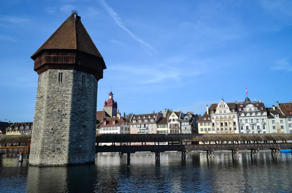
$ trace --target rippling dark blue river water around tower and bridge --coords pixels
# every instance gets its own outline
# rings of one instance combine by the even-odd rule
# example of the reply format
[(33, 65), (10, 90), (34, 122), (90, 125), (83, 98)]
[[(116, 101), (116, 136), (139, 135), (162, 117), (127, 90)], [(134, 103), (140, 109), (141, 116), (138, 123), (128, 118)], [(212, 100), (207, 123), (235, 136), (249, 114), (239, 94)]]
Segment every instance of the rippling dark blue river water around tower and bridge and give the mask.
[(292, 156), (273, 158), (261, 153), (251, 158), (240, 153), (189, 153), (186, 162), (179, 153), (98, 154), (95, 165), (74, 167), (28, 167), (26, 159), (2, 155), (2, 193), (291, 193)]

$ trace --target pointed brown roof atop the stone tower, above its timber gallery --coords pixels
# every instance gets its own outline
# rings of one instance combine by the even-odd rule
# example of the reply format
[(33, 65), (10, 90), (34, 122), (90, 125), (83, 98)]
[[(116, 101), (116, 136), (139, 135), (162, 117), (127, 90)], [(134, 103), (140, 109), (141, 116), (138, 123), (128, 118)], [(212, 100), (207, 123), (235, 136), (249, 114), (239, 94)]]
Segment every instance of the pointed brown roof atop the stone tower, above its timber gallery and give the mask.
[(31, 58), (34, 59), (37, 53), (40, 53), (42, 50), (51, 49), (77, 50), (102, 58), (90, 35), (81, 23), (81, 17), (77, 16), (76, 13), (72, 13)]

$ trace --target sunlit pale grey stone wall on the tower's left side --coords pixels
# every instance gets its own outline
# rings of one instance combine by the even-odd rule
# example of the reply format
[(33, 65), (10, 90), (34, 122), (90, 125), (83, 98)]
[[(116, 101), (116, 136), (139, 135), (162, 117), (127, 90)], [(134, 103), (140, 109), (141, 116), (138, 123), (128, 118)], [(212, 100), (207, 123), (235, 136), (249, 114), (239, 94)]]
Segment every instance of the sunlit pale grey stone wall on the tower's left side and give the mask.
[(73, 70), (47, 70), (39, 75), (30, 165), (68, 164), (72, 88)]

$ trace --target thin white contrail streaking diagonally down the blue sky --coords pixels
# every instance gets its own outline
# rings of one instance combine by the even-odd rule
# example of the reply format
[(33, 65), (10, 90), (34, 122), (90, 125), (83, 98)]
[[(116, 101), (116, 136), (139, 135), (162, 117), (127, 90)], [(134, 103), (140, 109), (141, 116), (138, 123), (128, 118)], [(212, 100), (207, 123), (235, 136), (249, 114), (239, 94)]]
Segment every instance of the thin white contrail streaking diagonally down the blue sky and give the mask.
[(110, 7), (110, 5), (105, 0), (99, 0), (102, 7), (110, 14), (111, 18), (118, 24), (119, 27), (121, 27), (123, 30), (125, 30), (133, 39), (138, 41), (142, 46), (152, 50), (153, 52), (157, 53), (156, 50), (148, 44), (146, 41), (138, 37), (137, 35), (134, 35), (124, 24), (122, 21), (122, 18), (119, 17), (119, 15)]

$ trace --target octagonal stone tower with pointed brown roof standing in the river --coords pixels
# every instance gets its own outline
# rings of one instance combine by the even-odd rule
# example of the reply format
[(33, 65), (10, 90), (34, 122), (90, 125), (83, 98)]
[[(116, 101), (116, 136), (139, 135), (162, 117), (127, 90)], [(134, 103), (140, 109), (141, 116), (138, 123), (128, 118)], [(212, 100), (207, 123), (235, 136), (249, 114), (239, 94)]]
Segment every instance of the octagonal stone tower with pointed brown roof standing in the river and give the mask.
[(31, 58), (38, 83), (29, 164), (94, 163), (97, 82), (106, 65), (77, 11)]

